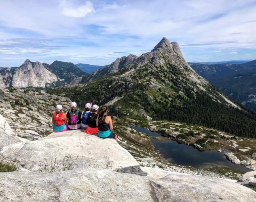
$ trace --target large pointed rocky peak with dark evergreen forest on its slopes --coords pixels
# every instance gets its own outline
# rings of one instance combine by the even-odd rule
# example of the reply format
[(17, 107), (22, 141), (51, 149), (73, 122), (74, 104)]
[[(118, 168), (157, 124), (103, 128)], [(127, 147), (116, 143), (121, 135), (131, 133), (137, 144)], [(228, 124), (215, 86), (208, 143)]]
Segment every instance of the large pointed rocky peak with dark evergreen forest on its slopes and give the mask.
[(48, 92), (85, 103), (111, 106), (112, 115), (202, 125), (241, 137), (256, 137), (256, 114), (230, 100), (185, 61), (176, 42), (155, 48), (115, 72), (84, 84)]

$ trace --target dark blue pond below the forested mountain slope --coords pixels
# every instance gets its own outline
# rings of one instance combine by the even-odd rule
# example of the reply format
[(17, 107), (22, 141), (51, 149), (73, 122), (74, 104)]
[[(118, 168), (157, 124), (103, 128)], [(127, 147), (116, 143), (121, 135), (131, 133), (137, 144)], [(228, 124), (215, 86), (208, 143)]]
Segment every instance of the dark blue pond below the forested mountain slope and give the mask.
[[(129, 125), (130, 126), (130, 125)], [(229, 167), (244, 172), (251, 171), (250, 169), (240, 164), (234, 164), (227, 160), (222, 152), (218, 151), (198, 151), (192, 146), (180, 144), (173, 140), (157, 141), (152, 137), (161, 137), (160, 134), (154, 133), (141, 127), (134, 127), (136, 131), (146, 133), (150, 136), (151, 141), (164, 159), (170, 163), (192, 166), (195, 168), (210, 168), (210, 167)]]

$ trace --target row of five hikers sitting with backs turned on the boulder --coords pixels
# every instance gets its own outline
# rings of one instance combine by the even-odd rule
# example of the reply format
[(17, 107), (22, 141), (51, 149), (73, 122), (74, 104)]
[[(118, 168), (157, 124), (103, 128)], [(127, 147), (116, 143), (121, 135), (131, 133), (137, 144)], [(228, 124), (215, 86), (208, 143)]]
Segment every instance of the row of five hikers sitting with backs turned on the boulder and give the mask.
[(59, 133), (68, 129), (84, 129), (84, 132), (91, 135), (98, 135), (101, 138), (112, 138), (117, 141), (117, 135), (113, 132), (113, 124), (110, 116), (107, 115), (108, 109), (105, 105), (101, 107), (87, 103), (85, 111), (77, 109), (75, 102), (71, 103), (71, 109), (64, 113), (62, 105), (56, 106), (56, 112), (52, 115), (53, 132)]

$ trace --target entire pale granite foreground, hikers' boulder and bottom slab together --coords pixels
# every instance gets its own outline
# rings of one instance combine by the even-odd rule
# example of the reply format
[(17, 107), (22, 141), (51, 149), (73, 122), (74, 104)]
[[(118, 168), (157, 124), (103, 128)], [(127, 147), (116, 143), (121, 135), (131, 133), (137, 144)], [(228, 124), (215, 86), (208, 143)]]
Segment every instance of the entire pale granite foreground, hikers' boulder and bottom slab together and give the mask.
[(80, 130), (0, 153), (21, 167), (0, 173), (0, 201), (256, 201), (256, 192), (234, 180), (142, 168), (113, 139)]

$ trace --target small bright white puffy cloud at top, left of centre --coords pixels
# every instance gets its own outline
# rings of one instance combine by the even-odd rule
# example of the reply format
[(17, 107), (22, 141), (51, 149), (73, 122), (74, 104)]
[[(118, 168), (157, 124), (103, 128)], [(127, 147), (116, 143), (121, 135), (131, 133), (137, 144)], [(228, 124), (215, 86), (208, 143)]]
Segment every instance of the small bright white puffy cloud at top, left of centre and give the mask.
[(86, 2), (83, 6), (79, 6), (77, 8), (63, 8), (63, 14), (68, 17), (73, 18), (82, 18), (86, 16), (88, 13), (94, 12), (94, 8), (91, 2)]

